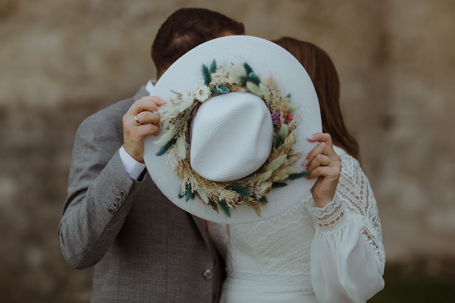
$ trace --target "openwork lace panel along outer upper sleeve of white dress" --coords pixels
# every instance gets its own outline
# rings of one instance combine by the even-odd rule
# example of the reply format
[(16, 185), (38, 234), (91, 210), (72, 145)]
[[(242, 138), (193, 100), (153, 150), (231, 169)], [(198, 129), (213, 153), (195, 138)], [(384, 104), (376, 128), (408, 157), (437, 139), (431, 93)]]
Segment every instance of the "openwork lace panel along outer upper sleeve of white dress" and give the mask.
[(385, 264), (382, 226), (370, 181), (356, 159), (347, 154), (340, 157), (343, 168), (341, 169), (337, 193), (343, 201), (343, 205), (351, 213), (362, 216), (361, 234), (373, 246), (382, 275), (384, 274)]

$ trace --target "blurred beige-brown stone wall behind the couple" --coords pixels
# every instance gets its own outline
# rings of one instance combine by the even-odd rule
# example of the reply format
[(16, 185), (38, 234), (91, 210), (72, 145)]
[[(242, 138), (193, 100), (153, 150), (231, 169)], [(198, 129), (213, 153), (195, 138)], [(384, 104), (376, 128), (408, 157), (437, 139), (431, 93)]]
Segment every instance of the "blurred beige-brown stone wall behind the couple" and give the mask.
[(378, 199), (387, 260), (455, 257), (455, 2), (0, 0), (2, 298), (88, 299), (91, 271), (67, 266), (57, 240), (74, 133), (154, 77), (151, 42), (181, 7), (323, 47)]

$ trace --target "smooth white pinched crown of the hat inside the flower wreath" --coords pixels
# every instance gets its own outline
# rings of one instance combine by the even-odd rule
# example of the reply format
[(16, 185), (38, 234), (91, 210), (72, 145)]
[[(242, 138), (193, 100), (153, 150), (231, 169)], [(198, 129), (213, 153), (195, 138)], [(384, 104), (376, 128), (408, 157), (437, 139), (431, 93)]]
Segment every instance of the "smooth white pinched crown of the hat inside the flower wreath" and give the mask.
[(211, 97), (193, 120), (191, 167), (212, 181), (244, 178), (268, 159), (272, 138), (270, 112), (260, 97), (246, 92)]

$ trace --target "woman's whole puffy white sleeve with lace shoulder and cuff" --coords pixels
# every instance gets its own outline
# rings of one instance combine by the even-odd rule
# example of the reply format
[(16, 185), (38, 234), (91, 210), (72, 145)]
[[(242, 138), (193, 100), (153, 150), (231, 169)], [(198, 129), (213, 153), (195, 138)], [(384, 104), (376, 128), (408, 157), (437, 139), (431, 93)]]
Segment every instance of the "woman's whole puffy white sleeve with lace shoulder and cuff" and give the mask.
[(344, 154), (334, 199), (323, 209), (310, 199), (315, 234), (311, 283), (317, 299), (366, 302), (384, 288), (385, 252), (376, 199), (357, 160)]

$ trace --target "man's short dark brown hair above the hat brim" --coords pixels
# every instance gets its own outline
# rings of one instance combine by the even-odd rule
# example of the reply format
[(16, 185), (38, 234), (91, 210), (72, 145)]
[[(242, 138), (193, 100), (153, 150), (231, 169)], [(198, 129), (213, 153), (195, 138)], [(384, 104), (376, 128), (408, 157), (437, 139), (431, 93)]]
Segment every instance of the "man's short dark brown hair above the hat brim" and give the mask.
[(161, 25), (152, 45), (152, 59), (160, 76), (178, 58), (206, 41), (242, 35), (245, 27), (207, 9), (179, 9)]

